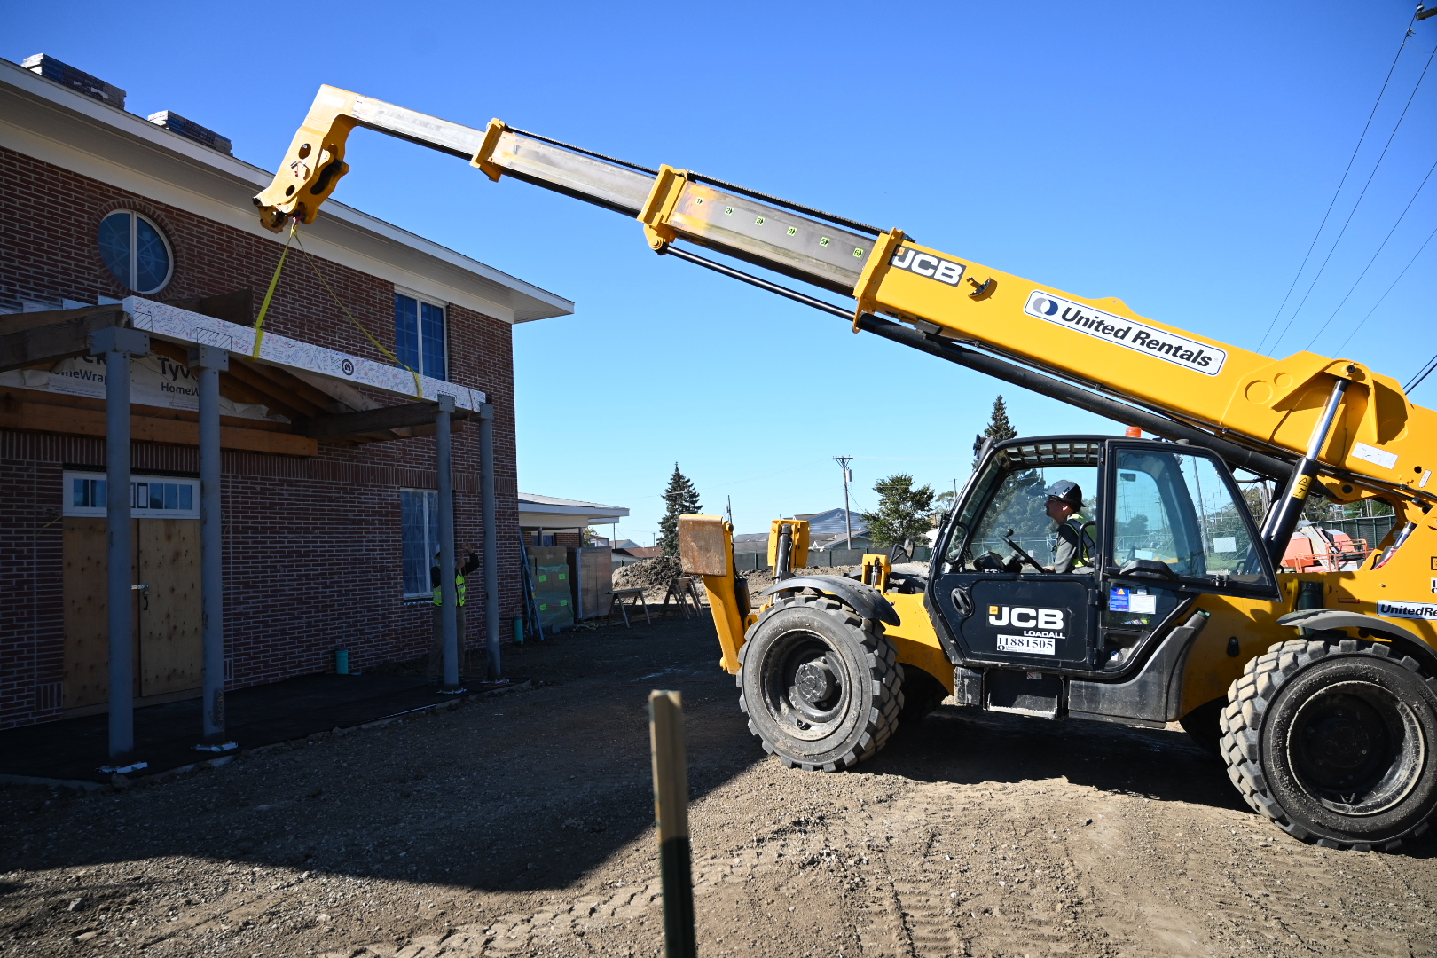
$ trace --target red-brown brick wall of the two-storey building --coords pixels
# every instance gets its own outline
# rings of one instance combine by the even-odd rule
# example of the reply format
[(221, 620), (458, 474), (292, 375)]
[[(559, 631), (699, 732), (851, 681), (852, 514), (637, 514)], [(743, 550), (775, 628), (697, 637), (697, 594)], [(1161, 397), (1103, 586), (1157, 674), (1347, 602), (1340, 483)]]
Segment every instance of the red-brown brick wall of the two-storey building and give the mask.
[[(144, 213), (165, 230), (174, 274), (154, 299), (214, 296), (269, 284), (279, 244), (185, 210), (0, 148), (0, 309), (22, 300), (95, 302), (129, 290), (105, 269), (95, 241), (115, 210)], [(303, 254), (292, 251), (266, 329), (385, 358), (343, 316)], [(394, 349), (394, 289), (316, 257), (345, 306)], [(500, 616), (520, 615), (512, 330), (448, 309), (450, 378), (494, 405)], [(134, 468), (195, 473), (194, 447), (137, 442)], [(103, 468), (103, 440), (0, 431), (0, 728), (56, 718), (63, 682), (60, 478), (65, 465)], [(479, 428), (454, 437), (458, 543), (483, 541)], [(348, 447), (322, 442), (316, 458), (226, 451), (226, 649), (231, 688), (328, 671), (335, 648), (351, 666), (422, 655), (430, 609), (405, 605), (399, 493), (434, 488), (434, 440)], [(468, 643), (483, 643), (483, 570), (470, 579)]]

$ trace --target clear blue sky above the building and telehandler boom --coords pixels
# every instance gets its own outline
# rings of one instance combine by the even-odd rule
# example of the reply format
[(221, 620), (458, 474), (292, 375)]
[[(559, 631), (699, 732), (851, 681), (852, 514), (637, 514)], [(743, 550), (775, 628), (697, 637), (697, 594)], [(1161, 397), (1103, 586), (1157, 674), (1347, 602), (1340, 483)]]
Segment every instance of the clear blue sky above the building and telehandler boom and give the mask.
[[(266, 168), (320, 83), (476, 126), (499, 116), (1256, 349), (1413, 6), (14, 4), (0, 55), (57, 56)], [(1372, 174), (1434, 45), (1437, 19), (1415, 24), (1277, 352), (1407, 381), (1437, 350), (1437, 240), (1355, 330), (1437, 227), (1434, 175), (1372, 260), (1437, 161), (1434, 66)], [(961, 483), (1000, 391), (1025, 434), (1117, 428), (655, 257), (616, 214), (366, 131), (349, 161), (336, 198), (578, 303), (514, 330), (520, 488), (627, 506), (621, 536), (658, 529), (675, 461), (708, 510), (731, 496), (739, 530), (757, 531), (841, 504), (839, 454), (858, 507), (895, 471)], [(1437, 375), (1414, 398), (1437, 404)]]

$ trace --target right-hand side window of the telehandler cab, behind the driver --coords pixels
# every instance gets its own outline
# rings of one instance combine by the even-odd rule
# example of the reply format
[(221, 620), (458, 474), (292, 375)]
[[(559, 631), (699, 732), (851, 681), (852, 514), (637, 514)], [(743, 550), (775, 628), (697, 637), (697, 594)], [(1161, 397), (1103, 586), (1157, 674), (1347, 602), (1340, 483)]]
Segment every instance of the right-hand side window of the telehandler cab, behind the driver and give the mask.
[(1117, 451), (1109, 560), (1165, 563), (1181, 577), (1266, 579), (1246, 521), (1246, 504), (1203, 455)]

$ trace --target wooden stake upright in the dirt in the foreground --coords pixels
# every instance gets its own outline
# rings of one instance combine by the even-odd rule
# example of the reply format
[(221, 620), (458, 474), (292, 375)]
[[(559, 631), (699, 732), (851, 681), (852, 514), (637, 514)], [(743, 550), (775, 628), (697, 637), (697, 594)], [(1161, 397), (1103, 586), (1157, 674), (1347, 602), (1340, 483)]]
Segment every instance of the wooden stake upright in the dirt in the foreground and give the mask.
[(684, 754), (684, 699), (678, 692), (655, 689), (648, 694), (648, 740), (654, 753), (654, 819), (664, 886), (664, 954), (667, 958), (696, 958), (688, 758)]

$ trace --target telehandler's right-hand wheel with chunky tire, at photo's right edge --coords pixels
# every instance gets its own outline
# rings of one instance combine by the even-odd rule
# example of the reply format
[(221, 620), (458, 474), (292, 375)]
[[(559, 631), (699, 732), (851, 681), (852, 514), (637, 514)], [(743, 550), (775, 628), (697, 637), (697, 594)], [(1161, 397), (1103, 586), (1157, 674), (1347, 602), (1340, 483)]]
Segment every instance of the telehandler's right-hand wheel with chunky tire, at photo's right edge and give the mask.
[(1256, 811), (1305, 842), (1387, 849), (1437, 807), (1437, 679), (1342, 635), (1279, 642), (1227, 691), (1221, 753)]

